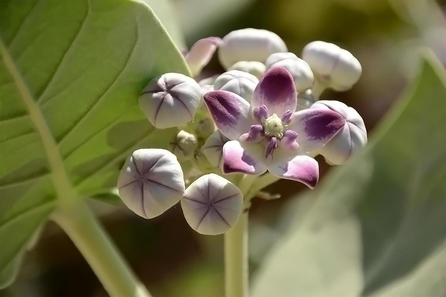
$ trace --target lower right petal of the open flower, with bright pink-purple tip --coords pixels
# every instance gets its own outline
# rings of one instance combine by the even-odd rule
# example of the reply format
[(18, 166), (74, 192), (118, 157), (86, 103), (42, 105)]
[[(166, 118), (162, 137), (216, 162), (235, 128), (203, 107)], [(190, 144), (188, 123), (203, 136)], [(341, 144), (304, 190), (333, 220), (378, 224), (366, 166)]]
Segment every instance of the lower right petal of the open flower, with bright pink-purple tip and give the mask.
[(319, 180), (318, 162), (306, 155), (298, 155), (293, 159), (281, 159), (268, 165), (268, 171), (281, 179), (304, 183), (310, 189), (313, 189)]

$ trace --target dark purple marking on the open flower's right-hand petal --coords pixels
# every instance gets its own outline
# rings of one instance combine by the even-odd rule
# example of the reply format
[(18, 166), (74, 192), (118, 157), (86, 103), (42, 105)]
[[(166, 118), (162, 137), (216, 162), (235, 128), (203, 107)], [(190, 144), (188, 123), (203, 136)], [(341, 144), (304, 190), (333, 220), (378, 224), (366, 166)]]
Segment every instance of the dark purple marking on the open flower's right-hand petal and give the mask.
[(331, 137), (345, 125), (345, 118), (333, 111), (314, 109), (314, 112), (303, 118), (305, 132), (310, 139)]

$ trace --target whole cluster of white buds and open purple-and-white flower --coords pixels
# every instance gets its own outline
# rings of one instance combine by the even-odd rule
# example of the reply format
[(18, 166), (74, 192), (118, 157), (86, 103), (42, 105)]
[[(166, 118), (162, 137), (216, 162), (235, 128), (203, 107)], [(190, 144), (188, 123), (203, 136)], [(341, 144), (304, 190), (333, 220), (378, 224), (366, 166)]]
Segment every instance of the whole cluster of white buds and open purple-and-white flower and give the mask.
[[(340, 165), (367, 143), (356, 110), (318, 100), (326, 88), (345, 91), (359, 80), (361, 65), (347, 50), (314, 41), (299, 58), (275, 33), (236, 30), (184, 53), (193, 77), (215, 51), (222, 74), (197, 81), (165, 73), (149, 81), (140, 107), (156, 128), (179, 128), (169, 142), (173, 153), (137, 150), (118, 179), (120, 197), (136, 214), (153, 218), (181, 201), (190, 227), (212, 235), (234, 226), (247, 202), (246, 193), (215, 173), (271, 174), (314, 188), (316, 155)], [(178, 160), (195, 167), (187, 188)]]

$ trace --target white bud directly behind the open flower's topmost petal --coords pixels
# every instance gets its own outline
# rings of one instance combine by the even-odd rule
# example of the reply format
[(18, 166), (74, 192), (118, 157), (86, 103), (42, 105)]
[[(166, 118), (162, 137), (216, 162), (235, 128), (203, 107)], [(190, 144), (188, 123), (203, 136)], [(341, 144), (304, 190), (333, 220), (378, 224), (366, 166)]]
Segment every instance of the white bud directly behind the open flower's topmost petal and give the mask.
[(310, 65), (293, 53), (273, 53), (265, 63), (266, 69), (277, 66), (285, 67), (293, 76), (297, 92), (303, 92), (313, 86), (314, 76)]

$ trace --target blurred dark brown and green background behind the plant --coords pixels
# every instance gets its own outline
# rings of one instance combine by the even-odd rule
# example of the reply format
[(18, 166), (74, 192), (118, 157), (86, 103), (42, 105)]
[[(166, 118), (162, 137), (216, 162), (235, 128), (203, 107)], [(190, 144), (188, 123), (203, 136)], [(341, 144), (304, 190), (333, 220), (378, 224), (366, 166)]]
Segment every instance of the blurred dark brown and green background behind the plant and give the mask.
[[(376, 124), (415, 78), (420, 46), (430, 48), (446, 65), (444, 1), (173, 0), (165, 3), (151, 0), (149, 4), (161, 21), (169, 17), (177, 20), (181, 31), (170, 24), (167, 29), (180, 47), (190, 47), (202, 37), (223, 37), (232, 30), (253, 27), (277, 33), (289, 51), (298, 56), (303, 46), (314, 40), (333, 42), (349, 50), (363, 66), (361, 79), (348, 92), (326, 91), (322, 98), (339, 100), (358, 110), (369, 138), (373, 138)], [(203, 76), (222, 71), (214, 57)], [(444, 110), (445, 104), (438, 108)], [(444, 120), (440, 125), (444, 129)], [(416, 123), (413, 129), (418, 129)], [(443, 138), (440, 145), (442, 141)], [(317, 160), (324, 183), (324, 176), (334, 168), (326, 165), (320, 156)], [(445, 164), (440, 165), (444, 172)], [(289, 226), (297, 228), (291, 220), (305, 215), (299, 211), (305, 209), (299, 205), (301, 197), (307, 194), (304, 185), (282, 180), (268, 187), (268, 191), (280, 193), (282, 197), (253, 201), (249, 246), (252, 277)], [(392, 199), (391, 196), (384, 198)], [(438, 198), (440, 205), (445, 206), (444, 192)], [(153, 220), (144, 220), (125, 207), (98, 201), (91, 204), (153, 296), (223, 295), (223, 236), (194, 232), (178, 205)], [(367, 205), (362, 208), (365, 212), (376, 210), (373, 203), (368, 205), (369, 209), (364, 207)], [(429, 217), (429, 213), (425, 216)], [(392, 227), (392, 220), (380, 217), (379, 213), (373, 220), (377, 225), (381, 221), (389, 222), (388, 227)], [(446, 223), (444, 219), (442, 223)], [(444, 225), (436, 227), (439, 238), (444, 238)], [(443, 264), (446, 264), (444, 259)], [(27, 253), (15, 283), (0, 293), (2, 296), (107, 296), (70, 239), (52, 222), (46, 224), (40, 240)]]

